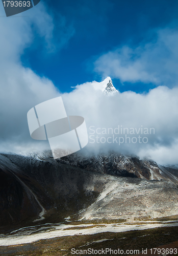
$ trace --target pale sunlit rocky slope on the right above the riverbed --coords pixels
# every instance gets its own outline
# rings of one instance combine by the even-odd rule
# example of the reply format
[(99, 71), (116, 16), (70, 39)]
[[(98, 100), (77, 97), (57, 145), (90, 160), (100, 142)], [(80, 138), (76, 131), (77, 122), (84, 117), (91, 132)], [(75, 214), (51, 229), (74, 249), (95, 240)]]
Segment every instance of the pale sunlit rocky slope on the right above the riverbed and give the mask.
[(97, 200), (80, 219), (124, 221), (178, 217), (178, 188), (168, 181), (110, 177)]

